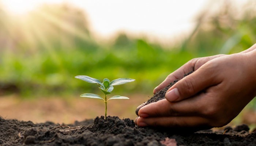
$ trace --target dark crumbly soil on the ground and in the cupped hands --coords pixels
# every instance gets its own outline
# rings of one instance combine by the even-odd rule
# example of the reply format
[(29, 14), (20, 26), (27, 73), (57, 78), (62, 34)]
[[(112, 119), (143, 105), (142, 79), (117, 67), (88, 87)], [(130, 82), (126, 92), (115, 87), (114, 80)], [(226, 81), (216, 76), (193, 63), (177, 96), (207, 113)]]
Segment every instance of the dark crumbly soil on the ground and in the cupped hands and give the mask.
[[(191, 73), (191, 72), (190, 72)], [(189, 73), (188, 73), (189, 74)], [(187, 76), (186, 74), (185, 76)], [(147, 103), (158, 101), (177, 81), (157, 92)], [(146, 103), (146, 104), (147, 104)], [(249, 132), (245, 124), (222, 130), (188, 132), (186, 129), (142, 128), (134, 121), (117, 116), (96, 117), (74, 124), (37, 123), (7, 120), (0, 117), (0, 145), (47, 146), (254, 146), (256, 132)]]

